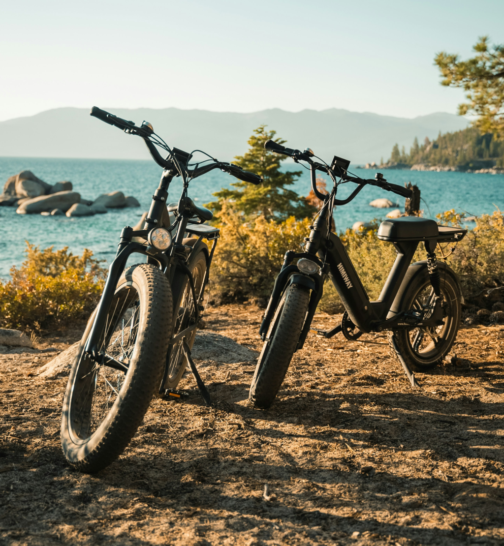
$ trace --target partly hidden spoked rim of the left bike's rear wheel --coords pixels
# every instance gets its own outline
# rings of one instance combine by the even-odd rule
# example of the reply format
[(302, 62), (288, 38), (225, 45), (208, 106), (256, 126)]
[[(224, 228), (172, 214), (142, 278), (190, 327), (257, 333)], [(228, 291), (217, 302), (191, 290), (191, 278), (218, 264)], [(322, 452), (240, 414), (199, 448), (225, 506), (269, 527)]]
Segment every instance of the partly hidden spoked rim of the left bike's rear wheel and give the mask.
[[(192, 270), (192, 275), (194, 279), (194, 292), (198, 296), (205, 275), (205, 266), (202, 262), (198, 262), (194, 266)], [(173, 335), (176, 336), (181, 331), (189, 328), (191, 324), (194, 324), (195, 317), (196, 311), (191, 292), (191, 284), (189, 284), (189, 281), (187, 281), (182, 292), (179, 312), (177, 313), (177, 316), (175, 318)], [(184, 336), (181, 340), (171, 345), (168, 363), (168, 381), (174, 381), (174, 379), (179, 375), (181, 367), (185, 366), (186, 357), (185, 353), (183, 352), (183, 341), (187, 342), (186, 338), (189, 337), (189, 339), (191, 339), (194, 334), (195, 331), (192, 331), (187, 336)]]

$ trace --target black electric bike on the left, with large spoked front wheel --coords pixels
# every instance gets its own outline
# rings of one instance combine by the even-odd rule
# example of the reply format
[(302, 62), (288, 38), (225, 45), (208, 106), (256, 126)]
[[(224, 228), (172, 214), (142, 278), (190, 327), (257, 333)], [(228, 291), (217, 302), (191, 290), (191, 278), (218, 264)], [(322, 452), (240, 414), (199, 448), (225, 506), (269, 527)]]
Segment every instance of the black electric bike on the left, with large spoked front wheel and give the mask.
[[(219, 230), (203, 223), (212, 219), (212, 212), (195, 205), (187, 188), (189, 181), (212, 169), (254, 184), (262, 181), (207, 154), (204, 162), (189, 164), (192, 154), (170, 148), (146, 121), (137, 127), (96, 106), (91, 115), (143, 138), (163, 174), (142, 229), (126, 226), (121, 232), (102, 298), (70, 371), (61, 440), (68, 462), (84, 472), (100, 470), (123, 452), (153, 394), (180, 396), (176, 387), (186, 363), (210, 403), (191, 348)], [(156, 146), (168, 156), (163, 158)], [(167, 206), (170, 182), (179, 176), (180, 199)], [(211, 242), (210, 251), (203, 239)], [(126, 268), (133, 253), (143, 254), (146, 263)]]

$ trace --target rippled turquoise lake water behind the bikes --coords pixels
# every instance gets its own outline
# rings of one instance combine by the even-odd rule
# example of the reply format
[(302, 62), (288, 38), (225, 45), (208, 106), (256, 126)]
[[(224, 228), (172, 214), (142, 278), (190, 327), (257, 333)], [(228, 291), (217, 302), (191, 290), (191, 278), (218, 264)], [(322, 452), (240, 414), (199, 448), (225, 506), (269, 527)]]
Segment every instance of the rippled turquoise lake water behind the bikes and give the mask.
[[(0, 207), (0, 277), (3, 278), (8, 276), (11, 266), (21, 264), (25, 240), (41, 248), (68, 246), (74, 253), (90, 248), (97, 257), (110, 262), (121, 229), (124, 225), (135, 225), (142, 212), (149, 209), (151, 195), (162, 172), (152, 161), (0, 157), (0, 183), (25, 169), (49, 183), (70, 180), (75, 191), (86, 199), (120, 190), (126, 195), (134, 195), (141, 207), (109, 210), (104, 215), (82, 218), (18, 215), (15, 207)], [(299, 167), (291, 164), (286, 169), (298, 170)], [(355, 169), (354, 172), (364, 178), (374, 176), (371, 170)], [(404, 185), (407, 181), (416, 184), (425, 201), (422, 203), (424, 216), (428, 218), (435, 218), (437, 213), (448, 209), (467, 211), (470, 215), (491, 213), (495, 206), (504, 209), (504, 175), (403, 170), (383, 170), (383, 175), (396, 184)], [(212, 171), (191, 183), (189, 195), (198, 204), (204, 204), (212, 200), (213, 192), (235, 180), (221, 171)], [(345, 197), (353, 187), (353, 184), (340, 187), (338, 197)], [(301, 195), (309, 193), (309, 171), (303, 169), (303, 175), (292, 189)], [(180, 192), (180, 179), (176, 179), (170, 186), (169, 201), (178, 200)], [(351, 203), (337, 207), (336, 229), (346, 229), (357, 221), (384, 218), (389, 209), (369, 206), (370, 201), (378, 197), (400, 203), (400, 209), (404, 210), (403, 198), (380, 188), (366, 187)]]

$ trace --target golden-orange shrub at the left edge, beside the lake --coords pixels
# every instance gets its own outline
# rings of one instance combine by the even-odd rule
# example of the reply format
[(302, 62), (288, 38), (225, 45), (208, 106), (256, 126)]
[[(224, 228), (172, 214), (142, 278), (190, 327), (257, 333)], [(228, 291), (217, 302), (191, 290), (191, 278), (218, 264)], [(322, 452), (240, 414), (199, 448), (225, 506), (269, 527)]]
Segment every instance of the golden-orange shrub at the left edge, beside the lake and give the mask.
[(10, 280), (0, 281), (0, 326), (40, 330), (64, 327), (72, 319), (87, 318), (96, 306), (106, 276), (85, 249), (74, 256), (68, 247), (40, 250), (27, 242), (27, 258)]

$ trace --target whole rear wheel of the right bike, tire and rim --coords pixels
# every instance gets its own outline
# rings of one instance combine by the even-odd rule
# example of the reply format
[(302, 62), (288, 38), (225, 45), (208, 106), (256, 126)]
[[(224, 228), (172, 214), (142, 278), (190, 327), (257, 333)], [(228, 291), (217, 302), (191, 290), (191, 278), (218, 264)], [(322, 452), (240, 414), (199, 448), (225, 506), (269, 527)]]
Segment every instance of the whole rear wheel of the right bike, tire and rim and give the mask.
[[(459, 330), (462, 300), (459, 284), (448, 268), (440, 270), (440, 274), (444, 324), (388, 333), (392, 353), (395, 354), (392, 345), (394, 335), (406, 363), (416, 372), (427, 371), (441, 364)], [(429, 273), (424, 269), (408, 283), (402, 295), (400, 310), (422, 310), (432, 302), (433, 297), (434, 289), (430, 284)]]

